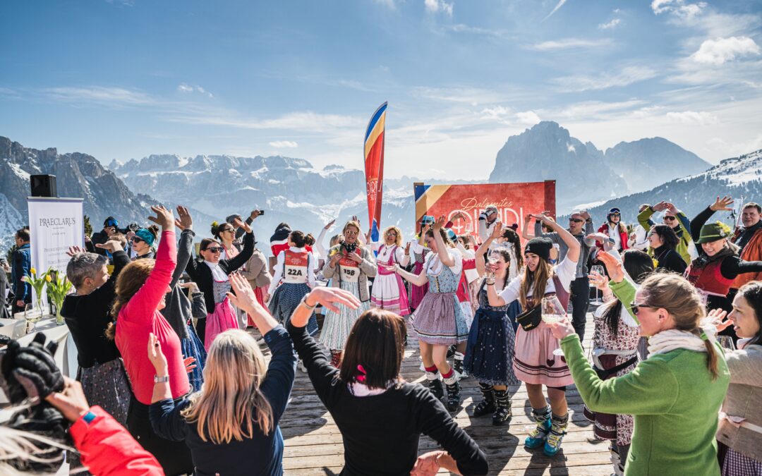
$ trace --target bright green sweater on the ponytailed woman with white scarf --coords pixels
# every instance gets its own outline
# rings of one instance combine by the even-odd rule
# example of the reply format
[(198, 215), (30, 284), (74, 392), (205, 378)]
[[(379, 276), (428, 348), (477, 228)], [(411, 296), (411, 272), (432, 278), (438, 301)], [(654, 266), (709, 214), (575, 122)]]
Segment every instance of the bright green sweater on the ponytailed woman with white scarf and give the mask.
[[(611, 289), (622, 302), (635, 296), (626, 281), (612, 283)], [(584, 358), (577, 334), (561, 340), (561, 348), (591, 411), (635, 416), (627, 476), (719, 476), (717, 413), (730, 382), (719, 348), (719, 377), (714, 381), (706, 369), (706, 353), (678, 349), (649, 356), (627, 375), (605, 382)]]

